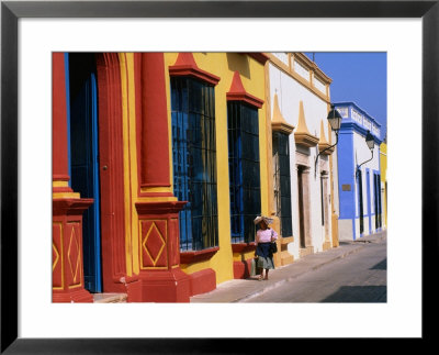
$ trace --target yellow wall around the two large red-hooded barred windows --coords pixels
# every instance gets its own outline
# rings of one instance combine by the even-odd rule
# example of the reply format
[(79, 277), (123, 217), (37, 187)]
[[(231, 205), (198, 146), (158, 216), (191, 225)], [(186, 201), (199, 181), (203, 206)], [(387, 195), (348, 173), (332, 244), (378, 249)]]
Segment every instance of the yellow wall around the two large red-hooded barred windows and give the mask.
[[(165, 53), (165, 66), (176, 64), (178, 53)], [(215, 131), (216, 131), (216, 169), (217, 169), (217, 206), (218, 206), (218, 251), (206, 260), (181, 264), (184, 273), (192, 275), (204, 269), (213, 269), (216, 284), (233, 279), (234, 264), (239, 265), (254, 257), (254, 249), (244, 246), (233, 247), (230, 243), (230, 200), (229, 170), (227, 149), (227, 92), (230, 91), (234, 78), (239, 76), (245, 91), (256, 98), (264, 98), (264, 64), (258, 57), (238, 53), (193, 53), (196, 66), (204, 71), (217, 76), (215, 86)], [(262, 62), (262, 63), (261, 63)], [(169, 76), (169, 73), (167, 74)], [(170, 97), (170, 79), (167, 82), (167, 93)], [(168, 100), (170, 106), (170, 101)], [(169, 125), (171, 125), (171, 108), (169, 107)], [(266, 104), (258, 110), (259, 118), (259, 155), (260, 155), (260, 188), (261, 213), (268, 213), (268, 162), (267, 162), (267, 114)], [(170, 140), (171, 142), (171, 140)], [(171, 151), (171, 147), (170, 147)], [(170, 173), (172, 176), (172, 171)], [(245, 264), (243, 264), (245, 266)], [(246, 264), (248, 265), (248, 263)], [(246, 266), (248, 267), (248, 266)], [(236, 270), (235, 270), (236, 273)]]

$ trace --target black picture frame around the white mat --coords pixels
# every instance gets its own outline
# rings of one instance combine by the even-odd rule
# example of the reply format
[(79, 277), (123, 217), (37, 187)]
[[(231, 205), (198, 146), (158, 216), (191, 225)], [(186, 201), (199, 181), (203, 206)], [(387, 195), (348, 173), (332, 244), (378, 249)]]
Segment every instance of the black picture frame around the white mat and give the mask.
[[(434, 1), (2, 1), (1, 2), (1, 353), (209, 354), (250, 352), (260, 342), (235, 339), (18, 337), (18, 21), (20, 18), (421, 18), (423, 21), (423, 340), (437, 279), (439, 4)], [(428, 75), (427, 75), (428, 74)], [(402, 103), (404, 104), (404, 103)], [(392, 192), (391, 192), (392, 193)], [(407, 257), (407, 262), (408, 257)], [(435, 266), (435, 269), (437, 267)], [(431, 289), (430, 289), (431, 288)], [(431, 325), (430, 325), (431, 326)]]

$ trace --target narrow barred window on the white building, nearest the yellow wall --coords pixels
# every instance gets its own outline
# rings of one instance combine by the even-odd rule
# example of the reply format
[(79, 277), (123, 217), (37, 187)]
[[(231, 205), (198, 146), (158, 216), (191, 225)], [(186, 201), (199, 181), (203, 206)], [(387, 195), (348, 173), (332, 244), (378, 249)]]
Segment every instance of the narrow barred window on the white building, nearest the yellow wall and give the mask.
[(274, 200), (275, 214), (283, 236), (293, 235), (291, 217), (291, 175), (289, 135), (273, 132)]

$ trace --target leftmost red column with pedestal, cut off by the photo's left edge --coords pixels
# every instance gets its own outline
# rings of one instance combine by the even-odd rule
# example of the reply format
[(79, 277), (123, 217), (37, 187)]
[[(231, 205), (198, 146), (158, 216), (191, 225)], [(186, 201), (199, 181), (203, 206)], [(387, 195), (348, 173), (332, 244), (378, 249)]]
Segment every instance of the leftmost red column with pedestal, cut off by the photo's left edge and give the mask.
[(53, 82), (53, 302), (92, 302), (83, 288), (82, 213), (93, 202), (68, 187), (67, 104), (64, 53), (54, 53)]

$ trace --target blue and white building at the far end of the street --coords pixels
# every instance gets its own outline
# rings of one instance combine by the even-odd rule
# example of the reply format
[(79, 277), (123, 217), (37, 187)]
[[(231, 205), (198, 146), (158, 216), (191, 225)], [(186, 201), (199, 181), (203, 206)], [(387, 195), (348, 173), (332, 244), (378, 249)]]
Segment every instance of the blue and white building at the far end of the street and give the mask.
[[(342, 117), (337, 146), (339, 240), (356, 240), (383, 228), (381, 124), (354, 102), (335, 103)], [(369, 148), (365, 136), (373, 136)]]

